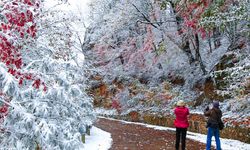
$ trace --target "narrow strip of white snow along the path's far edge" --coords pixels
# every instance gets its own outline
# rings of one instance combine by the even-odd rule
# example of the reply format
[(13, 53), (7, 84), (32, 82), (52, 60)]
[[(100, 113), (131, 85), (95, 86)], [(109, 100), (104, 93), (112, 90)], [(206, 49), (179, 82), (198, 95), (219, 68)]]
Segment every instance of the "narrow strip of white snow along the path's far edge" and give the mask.
[[(105, 118), (105, 117), (99, 117), (99, 118)], [(145, 126), (148, 128), (153, 128), (155, 130), (175, 131), (175, 128), (155, 126), (155, 125), (149, 125), (149, 124), (145, 124), (145, 123), (129, 122), (129, 121), (112, 119), (112, 118), (105, 118), (105, 119), (116, 120), (116, 121), (120, 121), (120, 122), (127, 123), (127, 124), (142, 125), (142, 126)], [(188, 132), (187, 138), (195, 140), (195, 141), (199, 141), (202, 143), (206, 143), (206, 135), (205, 134)], [(220, 138), (220, 140), (221, 140), (221, 147), (223, 150), (232, 150), (232, 149), (233, 150), (249, 150), (250, 149), (250, 144), (247, 144), (247, 143), (244, 143), (244, 142), (241, 142), (238, 140), (225, 139), (225, 138)], [(212, 145), (216, 146), (214, 137), (213, 137)]]

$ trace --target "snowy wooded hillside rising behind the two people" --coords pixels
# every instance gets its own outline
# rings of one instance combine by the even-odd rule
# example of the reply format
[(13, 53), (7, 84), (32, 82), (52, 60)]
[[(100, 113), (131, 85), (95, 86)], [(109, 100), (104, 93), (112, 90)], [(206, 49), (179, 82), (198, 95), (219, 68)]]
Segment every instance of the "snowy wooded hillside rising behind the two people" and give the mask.
[[(234, 19), (217, 20), (213, 15), (235, 8), (223, 4), (208, 16), (217, 4), (202, 2), (184, 7), (182, 1), (95, 0), (83, 48), (96, 68), (89, 89), (96, 107), (115, 108), (121, 115), (171, 115), (183, 99), (192, 113), (201, 114), (218, 100), (227, 126), (249, 129), (247, 8), (239, 3), (243, 17), (235, 10)], [(185, 15), (193, 20), (187, 22)]]

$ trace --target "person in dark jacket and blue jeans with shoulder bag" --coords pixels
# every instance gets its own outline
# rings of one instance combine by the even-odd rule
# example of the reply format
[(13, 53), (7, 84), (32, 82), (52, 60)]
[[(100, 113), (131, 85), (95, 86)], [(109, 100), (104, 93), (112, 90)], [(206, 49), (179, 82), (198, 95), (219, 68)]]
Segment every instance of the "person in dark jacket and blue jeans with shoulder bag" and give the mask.
[(204, 115), (208, 117), (207, 121), (207, 145), (206, 145), (206, 150), (211, 149), (211, 139), (212, 136), (215, 137), (215, 142), (216, 142), (216, 150), (221, 150), (221, 145), (220, 145), (220, 131), (219, 131), (219, 121), (221, 120), (222, 117), (222, 112), (219, 108), (219, 102), (214, 101), (213, 102), (213, 108), (209, 109), (207, 107), (204, 111)]

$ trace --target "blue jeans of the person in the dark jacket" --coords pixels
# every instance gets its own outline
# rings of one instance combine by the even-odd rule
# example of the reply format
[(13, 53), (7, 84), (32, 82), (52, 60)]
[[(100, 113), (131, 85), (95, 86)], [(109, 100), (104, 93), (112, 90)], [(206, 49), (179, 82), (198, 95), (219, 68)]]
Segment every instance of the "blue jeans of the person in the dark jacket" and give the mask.
[(207, 145), (206, 145), (206, 150), (211, 149), (211, 141), (212, 141), (212, 136), (214, 135), (215, 137), (215, 142), (216, 142), (216, 150), (221, 150), (220, 147), (220, 131), (218, 128), (211, 128), (208, 127), (207, 131)]

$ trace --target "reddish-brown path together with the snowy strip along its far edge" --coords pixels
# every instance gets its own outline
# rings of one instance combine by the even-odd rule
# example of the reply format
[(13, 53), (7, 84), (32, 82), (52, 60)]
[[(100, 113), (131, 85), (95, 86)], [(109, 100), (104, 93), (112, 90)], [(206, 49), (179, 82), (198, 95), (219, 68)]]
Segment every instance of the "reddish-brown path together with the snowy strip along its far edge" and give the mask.
[[(100, 117), (95, 124), (98, 128), (110, 132), (113, 143), (111, 150), (172, 150), (174, 149), (175, 129), (134, 123)], [(188, 132), (187, 150), (205, 149), (206, 135)], [(250, 144), (237, 140), (221, 138), (223, 150), (249, 150)], [(212, 142), (215, 146), (215, 142)]]

